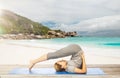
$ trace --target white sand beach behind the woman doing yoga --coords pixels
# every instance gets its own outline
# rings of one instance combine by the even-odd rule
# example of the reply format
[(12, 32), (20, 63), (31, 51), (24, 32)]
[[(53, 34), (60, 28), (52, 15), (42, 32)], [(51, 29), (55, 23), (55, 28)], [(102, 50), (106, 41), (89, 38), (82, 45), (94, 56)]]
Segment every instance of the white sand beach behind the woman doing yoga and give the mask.
[[(66, 45), (40, 44), (39, 46), (10, 44), (0, 40), (0, 65), (29, 64), (29, 60), (35, 59), (42, 54), (53, 52)], [(96, 48), (81, 46), (85, 52), (87, 64), (120, 64), (120, 49), (117, 48)], [(69, 57), (59, 58), (69, 60)], [(39, 64), (54, 64), (58, 59), (48, 60)]]

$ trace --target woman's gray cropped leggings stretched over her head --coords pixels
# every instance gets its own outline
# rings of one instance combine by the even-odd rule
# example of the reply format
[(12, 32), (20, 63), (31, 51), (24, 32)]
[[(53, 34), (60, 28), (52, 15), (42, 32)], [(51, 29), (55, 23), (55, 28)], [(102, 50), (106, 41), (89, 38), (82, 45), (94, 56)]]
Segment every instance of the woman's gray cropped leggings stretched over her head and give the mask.
[(55, 58), (60, 58), (60, 57), (65, 57), (69, 55), (75, 55), (82, 49), (80, 48), (79, 45), (77, 44), (71, 44), (68, 45), (60, 50), (57, 50), (55, 52), (50, 52), (47, 54), (47, 59), (55, 59)]

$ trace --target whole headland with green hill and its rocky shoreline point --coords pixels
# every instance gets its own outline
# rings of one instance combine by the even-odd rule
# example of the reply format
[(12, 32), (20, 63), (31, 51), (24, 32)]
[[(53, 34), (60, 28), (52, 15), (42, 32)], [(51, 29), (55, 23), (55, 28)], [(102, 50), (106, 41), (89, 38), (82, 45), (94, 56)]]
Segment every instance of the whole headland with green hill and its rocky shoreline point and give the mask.
[(52, 30), (8, 10), (0, 15), (0, 39), (49, 39), (77, 36), (76, 31)]

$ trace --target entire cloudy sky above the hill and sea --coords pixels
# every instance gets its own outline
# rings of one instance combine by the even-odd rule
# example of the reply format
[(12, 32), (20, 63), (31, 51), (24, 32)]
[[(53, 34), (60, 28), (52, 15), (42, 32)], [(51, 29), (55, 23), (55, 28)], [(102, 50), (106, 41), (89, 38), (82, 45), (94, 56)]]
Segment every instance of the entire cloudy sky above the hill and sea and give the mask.
[(0, 0), (0, 9), (52, 29), (120, 36), (120, 0)]

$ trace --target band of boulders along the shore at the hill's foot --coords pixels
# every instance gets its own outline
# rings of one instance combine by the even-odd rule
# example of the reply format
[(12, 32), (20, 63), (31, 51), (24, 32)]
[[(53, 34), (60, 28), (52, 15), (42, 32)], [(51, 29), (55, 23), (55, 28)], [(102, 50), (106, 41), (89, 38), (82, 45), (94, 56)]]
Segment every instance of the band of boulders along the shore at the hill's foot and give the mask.
[(65, 37), (74, 37), (76, 36), (76, 32), (56, 32), (55, 30), (48, 31), (46, 35), (35, 35), (35, 34), (2, 34), (0, 35), (0, 39), (13, 39), (13, 40), (20, 40), (20, 39), (49, 39), (49, 38), (65, 38)]

